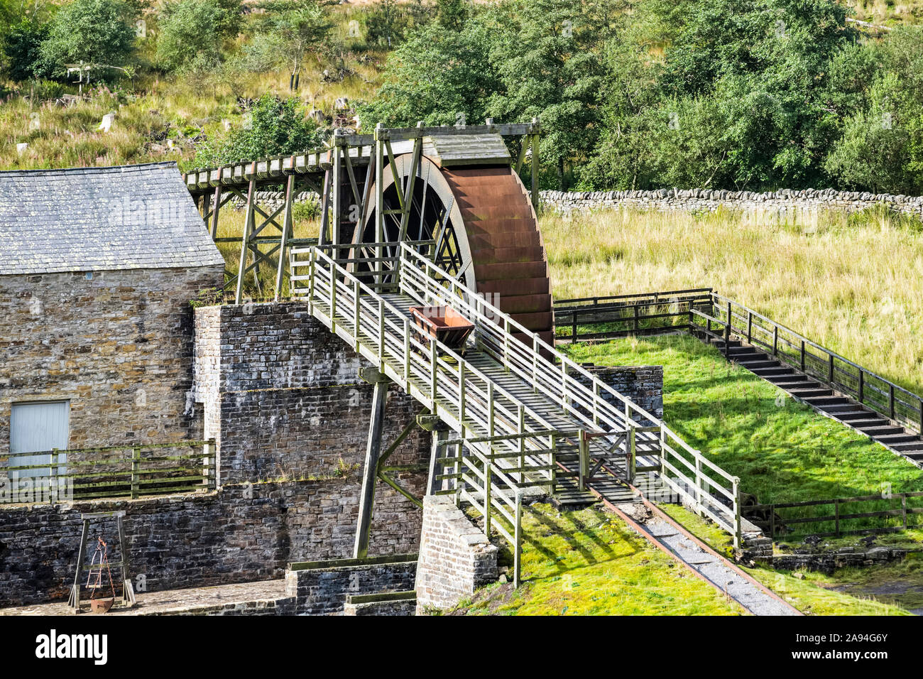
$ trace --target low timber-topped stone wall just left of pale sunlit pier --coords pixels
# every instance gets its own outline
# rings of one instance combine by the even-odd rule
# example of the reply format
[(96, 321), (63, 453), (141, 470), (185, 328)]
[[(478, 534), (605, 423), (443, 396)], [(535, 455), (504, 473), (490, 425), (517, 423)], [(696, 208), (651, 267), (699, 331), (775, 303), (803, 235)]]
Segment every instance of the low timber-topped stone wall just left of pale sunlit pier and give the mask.
[(285, 594), (300, 615), (342, 613), (348, 595), (400, 592), (414, 588), (416, 554), (390, 559), (349, 559), (341, 563), (292, 564)]

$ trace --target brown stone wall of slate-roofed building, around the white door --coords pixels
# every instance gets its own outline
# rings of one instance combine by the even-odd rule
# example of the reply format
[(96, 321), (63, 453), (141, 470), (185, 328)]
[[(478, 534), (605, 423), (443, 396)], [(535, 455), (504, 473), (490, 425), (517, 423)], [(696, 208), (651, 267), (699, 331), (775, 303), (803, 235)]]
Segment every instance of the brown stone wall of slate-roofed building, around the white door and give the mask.
[(222, 267), (0, 276), (0, 455), (14, 403), (70, 402), (68, 446), (202, 435), (189, 301)]

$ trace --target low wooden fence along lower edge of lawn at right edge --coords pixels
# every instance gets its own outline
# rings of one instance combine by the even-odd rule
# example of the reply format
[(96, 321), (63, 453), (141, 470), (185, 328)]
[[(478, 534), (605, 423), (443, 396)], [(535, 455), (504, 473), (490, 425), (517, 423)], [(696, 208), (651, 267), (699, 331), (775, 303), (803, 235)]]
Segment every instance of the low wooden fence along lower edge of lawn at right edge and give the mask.
[(894, 533), (923, 527), (923, 520), (913, 520), (915, 515), (921, 514), (923, 492), (754, 504), (744, 510), (744, 515), (773, 539), (794, 535), (839, 538), (844, 535)]

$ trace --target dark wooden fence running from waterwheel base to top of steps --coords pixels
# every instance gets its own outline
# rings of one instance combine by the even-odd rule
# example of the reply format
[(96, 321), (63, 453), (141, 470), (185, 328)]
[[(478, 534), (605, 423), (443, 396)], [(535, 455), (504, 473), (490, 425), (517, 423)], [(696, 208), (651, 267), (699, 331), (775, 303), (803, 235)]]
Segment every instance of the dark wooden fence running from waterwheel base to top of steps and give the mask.
[(557, 339), (580, 342), (689, 329), (690, 309), (711, 309), (712, 288), (580, 297), (555, 302)]

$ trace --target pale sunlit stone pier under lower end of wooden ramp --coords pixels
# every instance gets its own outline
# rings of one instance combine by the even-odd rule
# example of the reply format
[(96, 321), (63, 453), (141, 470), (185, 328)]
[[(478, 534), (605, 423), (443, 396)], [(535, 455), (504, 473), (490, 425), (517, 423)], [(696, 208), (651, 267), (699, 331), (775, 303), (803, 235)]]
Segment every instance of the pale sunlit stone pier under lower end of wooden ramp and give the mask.
[(416, 566), (417, 612), (450, 608), (497, 577), (497, 547), (449, 496), (427, 495)]

